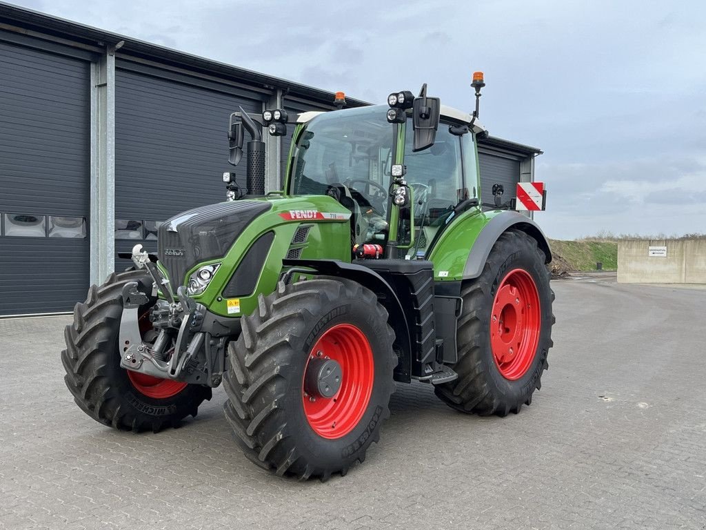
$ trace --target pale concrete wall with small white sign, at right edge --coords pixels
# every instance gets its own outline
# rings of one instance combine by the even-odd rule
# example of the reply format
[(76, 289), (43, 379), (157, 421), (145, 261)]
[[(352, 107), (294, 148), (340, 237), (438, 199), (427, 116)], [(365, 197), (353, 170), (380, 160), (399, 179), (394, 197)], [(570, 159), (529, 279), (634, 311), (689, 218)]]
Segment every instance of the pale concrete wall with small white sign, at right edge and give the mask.
[[(650, 247), (666, 247), (666, 257)], [(618, 241), (618, 282), (706, 283), (706, 239)]]

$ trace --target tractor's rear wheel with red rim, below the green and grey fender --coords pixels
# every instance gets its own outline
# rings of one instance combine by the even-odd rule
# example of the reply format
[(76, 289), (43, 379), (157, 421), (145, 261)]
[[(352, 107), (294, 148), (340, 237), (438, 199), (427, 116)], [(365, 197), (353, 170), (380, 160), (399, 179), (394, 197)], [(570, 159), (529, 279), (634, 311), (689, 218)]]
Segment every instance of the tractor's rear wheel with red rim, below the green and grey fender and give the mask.
[(537, 241), (505, 232), (479, 278), (462, 285), (458, 320), (458, 379), (436, 395), (462, 412), (481, 416), (517, 413), (542, 387), (554, 315), (549, 271)]

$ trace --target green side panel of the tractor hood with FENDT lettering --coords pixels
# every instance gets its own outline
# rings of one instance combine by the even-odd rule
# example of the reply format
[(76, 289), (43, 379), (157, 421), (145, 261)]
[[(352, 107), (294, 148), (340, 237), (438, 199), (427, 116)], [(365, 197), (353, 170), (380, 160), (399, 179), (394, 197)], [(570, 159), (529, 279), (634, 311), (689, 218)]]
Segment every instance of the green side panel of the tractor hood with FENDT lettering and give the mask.
[[(208, 307), (210, 312), (227, 317), (239, 317), (242, 314), (250, 314), (257, 307), (257, 298), (260, 293), (268, 295), (275, 290), (277, 279), (282, 273), (282, 259), (285, 258), (290, 247), (303, 247), (301, 259), (340, 259), (341, 261), (350, 261), (350, 228), (347, 219), (287, 220), (280, 216), (280, 214), (287, 216), (290, 211), (349, 214), (350, 212), (347, 208), (341, 206), (337, 201), (329, 196), (319, 195), (271, 196), (261, 200), (272, 204), (272, 209), (253, 219), (239, 235), (225, 257), (203, 261), (186, 273), (186, 278), (189, 278), (191, 273), (203, 265), (221, 264), (208, 288), (201, 295), (193, 295), (191, 297)], [(311, 225), (306, 245), (292, 245), (294, 232), (302, 224)], [(258, 237), (267, 232), (274, 232), (275, 239), (262, 269), (251, 271), (253, 275), (258, 276), (255, 290), (251, 295), (237, 298), (239, 300), (239, 313), (229, 314), (227, 299), (222, 297), (222, 292), (253, 242), (256, 242)]]

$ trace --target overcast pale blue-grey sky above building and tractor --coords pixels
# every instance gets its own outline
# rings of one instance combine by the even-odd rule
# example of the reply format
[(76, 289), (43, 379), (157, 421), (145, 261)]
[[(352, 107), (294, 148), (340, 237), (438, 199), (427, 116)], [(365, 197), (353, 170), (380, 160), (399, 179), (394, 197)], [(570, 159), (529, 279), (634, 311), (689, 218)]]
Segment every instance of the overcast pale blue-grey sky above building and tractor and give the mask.
[(419, 90), (542, 148), (550, 237), (706, 232), (706, 2), (15, 0), (371, 102)]

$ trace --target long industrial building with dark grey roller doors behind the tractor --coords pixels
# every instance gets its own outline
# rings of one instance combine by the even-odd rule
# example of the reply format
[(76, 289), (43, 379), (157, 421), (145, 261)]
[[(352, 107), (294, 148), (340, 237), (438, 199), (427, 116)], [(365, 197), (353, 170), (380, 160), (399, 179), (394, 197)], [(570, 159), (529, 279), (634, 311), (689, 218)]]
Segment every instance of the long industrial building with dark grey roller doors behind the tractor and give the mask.
[[(116, 252), (224, 199), (227, 123), (332, 110), (333, 93), (0, 3), (0, 316), (71, 310), (129, 265)], [(348, 98), (351, 106), (366, 102)], [(268, 135), (265, 135), (268, 136)], [(278, 189), (289, 141), (267, 188)], [(537, 148), (479, 143), (483, 199), (534, 180)]]

